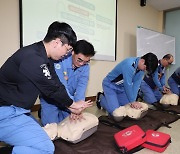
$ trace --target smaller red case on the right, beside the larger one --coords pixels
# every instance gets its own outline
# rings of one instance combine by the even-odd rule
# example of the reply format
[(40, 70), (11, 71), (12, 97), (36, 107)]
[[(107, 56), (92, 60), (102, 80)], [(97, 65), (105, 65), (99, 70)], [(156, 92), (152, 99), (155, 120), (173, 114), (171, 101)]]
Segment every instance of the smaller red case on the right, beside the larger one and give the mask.
[(142, 146), (157, 152), (163, 152), (170, 143), (171, 137), (169, 134), (154, 130), (147, 130), (146, 141), (142, 144)]

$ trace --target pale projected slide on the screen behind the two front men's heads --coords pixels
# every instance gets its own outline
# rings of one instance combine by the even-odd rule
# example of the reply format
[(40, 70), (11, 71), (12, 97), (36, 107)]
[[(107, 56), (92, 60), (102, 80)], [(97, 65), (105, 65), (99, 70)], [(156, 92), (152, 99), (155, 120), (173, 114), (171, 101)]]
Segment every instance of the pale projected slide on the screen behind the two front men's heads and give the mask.
[(56, 20), (91, 42), (95, 59), (115, 60), (116, 0), (22, 0), (22, 45), (42, 40)]

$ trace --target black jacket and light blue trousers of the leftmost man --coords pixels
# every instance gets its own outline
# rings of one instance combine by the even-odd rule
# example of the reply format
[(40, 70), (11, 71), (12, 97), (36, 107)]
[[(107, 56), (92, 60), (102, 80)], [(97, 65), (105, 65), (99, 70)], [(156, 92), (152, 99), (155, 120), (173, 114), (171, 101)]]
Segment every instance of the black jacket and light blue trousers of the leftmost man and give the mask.
[(46, 132), (27, 114), (39, 94), (60, 108), (73, 103), (43, 42), (19, 49), (0, 69), (0, 141), (13, 145), (13, 154), (54, 153)]

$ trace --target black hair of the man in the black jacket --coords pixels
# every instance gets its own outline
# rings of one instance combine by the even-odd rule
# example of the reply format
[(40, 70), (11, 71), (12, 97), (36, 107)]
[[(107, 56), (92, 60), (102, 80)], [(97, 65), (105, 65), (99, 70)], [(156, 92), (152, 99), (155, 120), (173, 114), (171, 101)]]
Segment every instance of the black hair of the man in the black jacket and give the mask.
[(74, 46), (77, 36), (72, 27), (65, 22), (53, 22), (47, 31), (44, 42), (50, 42), (56, 38), (60, 38), (62, 43)]

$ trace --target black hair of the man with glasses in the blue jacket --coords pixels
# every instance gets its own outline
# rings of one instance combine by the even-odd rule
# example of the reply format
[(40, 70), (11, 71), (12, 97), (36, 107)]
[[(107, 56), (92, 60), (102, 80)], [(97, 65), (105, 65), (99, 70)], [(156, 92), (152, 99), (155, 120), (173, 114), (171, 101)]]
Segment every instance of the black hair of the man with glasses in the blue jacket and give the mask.
[(75, 54), (81, 53), (85, 56), (94, 56), (95, 55), (94, 46), (86, 40), (79, 40), (76, 42), (74, 46), (74, 53)]

